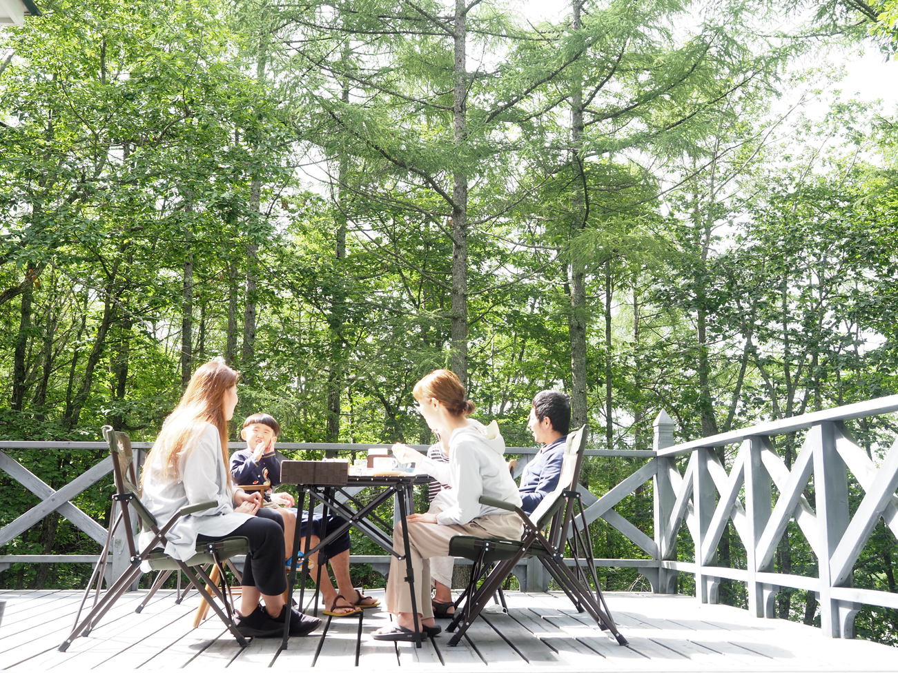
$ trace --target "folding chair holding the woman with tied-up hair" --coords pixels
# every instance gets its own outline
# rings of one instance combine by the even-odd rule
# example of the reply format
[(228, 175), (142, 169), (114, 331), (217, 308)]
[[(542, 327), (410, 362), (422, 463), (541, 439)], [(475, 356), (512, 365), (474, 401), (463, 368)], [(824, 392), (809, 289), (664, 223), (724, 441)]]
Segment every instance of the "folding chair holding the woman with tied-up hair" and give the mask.
[[(577, 493), (577, 479), (583, 463), (585, 445), (585, 425), (576, 432), (568, 434), (559, 485), (543, 498), (531, 516), (527, 516), (521, 508), (510, 503), (488, 497), (480, 498), (480, 503), (514, 511), (521, 518), (524, 523), (524, 534), (520, 540), (472, 536), (455, 536), (450, 540), (449, 555), (463, 556), (473, 562), (471, 581), (462, 596), (455, 601), (455, 616), (446, 629), (455, 632), (449, 641), (450, 645), (458, 644), (489, 599), (497, 591), (501, 592), (502, 582), (524, 556), (538, 558), (577, 607), (578, 612), (588, 612), (597, 625), (614, 635), (618, 643), (627, 644), (627, 639), (614, 624), (599, 589), (589, 529), (582, 516), (580, 518), (582, 525), (578, 526), (575, 519), (577, 514), (583, 513), (583, 503)], [(547, 529), (548, 532), (544, 532)], [(573, 570), (564, 563), (564, 552), (568, 543), (574, 559)], [(477, 584), (481, 579), (482, 582), (478, 587)], [(589, 589), (590, 581), (595, 587), (594, 591)], [(504, 599), (502, 605), (505, 607)]]

